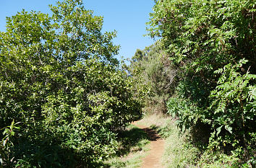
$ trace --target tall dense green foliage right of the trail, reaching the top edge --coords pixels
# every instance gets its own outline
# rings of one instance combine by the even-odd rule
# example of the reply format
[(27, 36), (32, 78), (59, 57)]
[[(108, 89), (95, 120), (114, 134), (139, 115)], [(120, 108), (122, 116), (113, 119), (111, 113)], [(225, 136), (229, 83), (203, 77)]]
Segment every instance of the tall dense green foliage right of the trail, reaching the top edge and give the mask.
[(208, 148), (239, 150), (255, 165), (256, 1), (155, 2), (149, 35), (178, 69), (168, 112), (182, 128), (207, 128)]

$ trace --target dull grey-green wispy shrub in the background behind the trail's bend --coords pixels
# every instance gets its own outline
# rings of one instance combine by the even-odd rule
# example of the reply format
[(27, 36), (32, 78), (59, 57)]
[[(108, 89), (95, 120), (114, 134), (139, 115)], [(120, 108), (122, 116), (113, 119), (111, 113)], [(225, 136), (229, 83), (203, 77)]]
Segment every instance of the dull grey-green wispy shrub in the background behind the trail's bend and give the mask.
[[(161, 41), (137, 49), (128, 68), (133, 78), (142, 80), (148, 86), (148, 95), (144, 99), (144, 111), (166, 113), (166, 102), (175, 87), (176, 70), (161, 47)], [(140, 85), (138, 82), (137, 84)]]

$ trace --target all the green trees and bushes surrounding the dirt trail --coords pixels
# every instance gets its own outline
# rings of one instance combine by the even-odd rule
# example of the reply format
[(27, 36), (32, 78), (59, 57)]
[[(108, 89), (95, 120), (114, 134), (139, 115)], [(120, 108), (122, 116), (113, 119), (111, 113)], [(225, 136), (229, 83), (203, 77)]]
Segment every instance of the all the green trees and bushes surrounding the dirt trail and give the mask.
[(155, 0), (129, 65), (82, 1), (49, 7), (0, 32), (0, 167), (114, 167), (158, 113), (193, 154), (168, 167), (256, 166), (256, 1)]

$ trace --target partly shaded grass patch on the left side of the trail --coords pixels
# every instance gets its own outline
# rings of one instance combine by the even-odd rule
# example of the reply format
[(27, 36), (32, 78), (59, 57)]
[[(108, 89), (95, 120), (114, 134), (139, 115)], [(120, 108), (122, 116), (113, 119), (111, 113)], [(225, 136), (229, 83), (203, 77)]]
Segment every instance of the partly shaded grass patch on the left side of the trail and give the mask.
[(135, 125), (129, 125), (125, 131), (119, 132), (119, 152), (104, 163), (105, 167), (140, 167), (142, 157), (149, 150), (148, 143), (147, 133)]

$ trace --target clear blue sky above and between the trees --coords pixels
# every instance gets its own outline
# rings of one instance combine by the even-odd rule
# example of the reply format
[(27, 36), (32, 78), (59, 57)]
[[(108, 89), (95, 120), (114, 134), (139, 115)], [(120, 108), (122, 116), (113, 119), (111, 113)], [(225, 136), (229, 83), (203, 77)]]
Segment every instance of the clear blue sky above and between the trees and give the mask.
[[(0, 31), (5, 30), (6, 17), (25, 11), (40, 11), (51, 13), (48, 4), (56, 0), (0, 0)], [(83, 0), (86, 9), (91, 9), (95, 15), (103, 19), (103, 31), (117, 31), (114, 44), (121, 45), (119, 56), (131, 58), (137, 48), (144, 49), (154, 43), (150, 37), (143, 37), (145, 22), (152, 12), (153, 0)]]

